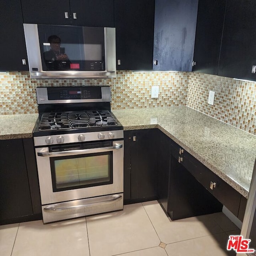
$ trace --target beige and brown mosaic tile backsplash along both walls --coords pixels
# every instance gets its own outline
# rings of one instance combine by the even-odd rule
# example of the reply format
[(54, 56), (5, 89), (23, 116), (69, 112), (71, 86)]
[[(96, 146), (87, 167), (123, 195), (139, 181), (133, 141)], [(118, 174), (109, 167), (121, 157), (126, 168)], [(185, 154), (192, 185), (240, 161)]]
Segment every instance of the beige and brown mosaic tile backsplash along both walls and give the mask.
[[(0, 73), (0, 114), (37, 113), (36, 87), (111, 86), (112, 109), (189, 106), (256, 135), (256, 83), (197, 72), (117, 71), (109, 79), (31, 79), (29, 72)], [(159, 86), (159, 98), (151, 98)], [(208, 104), (209, 90), (215, 92)]]

